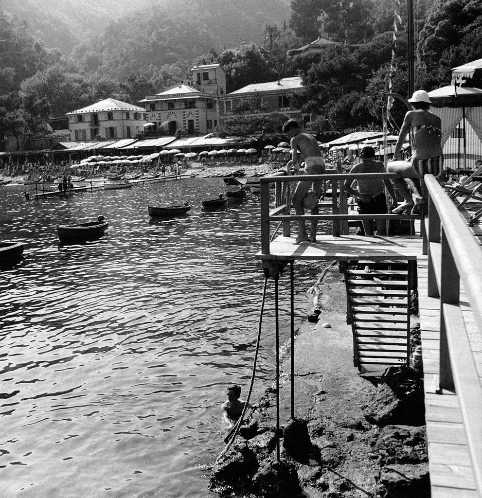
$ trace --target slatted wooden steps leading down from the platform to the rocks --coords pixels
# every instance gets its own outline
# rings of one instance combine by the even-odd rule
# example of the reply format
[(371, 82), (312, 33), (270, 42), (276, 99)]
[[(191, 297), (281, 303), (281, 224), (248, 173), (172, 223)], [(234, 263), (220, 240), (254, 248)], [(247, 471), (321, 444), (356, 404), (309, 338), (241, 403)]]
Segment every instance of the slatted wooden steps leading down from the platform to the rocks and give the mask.
[(353, 362), (361, 372), (409, 364), (415, 264), (406, 260), (345, 263), (347, 323), (352, 325)]

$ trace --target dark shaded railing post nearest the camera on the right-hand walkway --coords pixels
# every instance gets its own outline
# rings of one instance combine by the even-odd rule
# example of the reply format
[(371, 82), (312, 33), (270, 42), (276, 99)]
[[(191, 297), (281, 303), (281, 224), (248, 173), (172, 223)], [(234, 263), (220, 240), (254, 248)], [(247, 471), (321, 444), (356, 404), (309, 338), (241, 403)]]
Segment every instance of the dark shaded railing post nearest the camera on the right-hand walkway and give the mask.
[[(440, 220), (439, 220), (440, 222)], [(441, 264), (440, 268), (440, 357), (439, 386), (440, 389), (454, 389), (454, 378), (450, 363), (447, 329), (444, 319), (444, 304), (457, 304), (460, 300), (460, 276), (455, 264), (452, 250), (445, 235), (441, 231)]]

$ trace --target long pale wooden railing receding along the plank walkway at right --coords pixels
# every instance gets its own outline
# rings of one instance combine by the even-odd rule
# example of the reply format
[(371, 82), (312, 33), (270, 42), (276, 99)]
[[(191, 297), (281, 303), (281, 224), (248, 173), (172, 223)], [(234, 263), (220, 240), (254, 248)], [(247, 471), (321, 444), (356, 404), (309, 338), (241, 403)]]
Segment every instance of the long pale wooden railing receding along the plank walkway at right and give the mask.
[(462, 283), (481, 341), (482, 249), (433, 175), (425, 175), (425, 185), (428, 296), (440, 298), (439, 388), (457, 394), (475, 482), (482, 494), (482, 386), (460, 303)]

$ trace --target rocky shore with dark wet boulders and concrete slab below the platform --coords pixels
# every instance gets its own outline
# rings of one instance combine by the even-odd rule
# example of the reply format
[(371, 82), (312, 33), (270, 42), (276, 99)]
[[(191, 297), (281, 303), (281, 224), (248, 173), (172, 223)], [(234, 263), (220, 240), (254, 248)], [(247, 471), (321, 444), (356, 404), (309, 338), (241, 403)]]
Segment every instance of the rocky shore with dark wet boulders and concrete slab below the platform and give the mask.
[(283, 361), (280, 462), (276, 392), (269, 387), (213, 466), (210, 489), (218, 496), (430, 496), (422, 374), (401, 366), (361, 375), (353, 367), (342, 278), (337, 267), (328, 268), (318, 297), (320, 321), (297, 330), (295, 421), (289, 419), (289, 358)]

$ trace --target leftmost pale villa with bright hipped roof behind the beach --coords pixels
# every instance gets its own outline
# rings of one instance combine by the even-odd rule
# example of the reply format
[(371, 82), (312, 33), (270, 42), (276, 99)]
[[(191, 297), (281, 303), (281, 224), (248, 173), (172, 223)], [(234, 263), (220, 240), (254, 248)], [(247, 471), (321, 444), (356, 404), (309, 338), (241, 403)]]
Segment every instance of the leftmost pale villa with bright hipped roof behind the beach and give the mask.
[(66, 113), (70, 139), (131, 138), (142, 132), (145, 109), (116, 99), (105, 99), (91, 106)]

